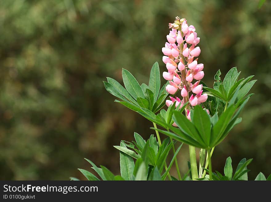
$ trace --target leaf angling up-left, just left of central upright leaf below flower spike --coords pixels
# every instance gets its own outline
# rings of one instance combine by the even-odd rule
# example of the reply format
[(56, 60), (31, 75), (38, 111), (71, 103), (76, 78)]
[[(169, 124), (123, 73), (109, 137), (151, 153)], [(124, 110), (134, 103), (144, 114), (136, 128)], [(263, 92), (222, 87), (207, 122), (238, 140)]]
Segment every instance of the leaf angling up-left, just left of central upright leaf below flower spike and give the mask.
[(180, 112), (174, 111), (173, 113), (173, 121), (177, 124), (177, 126), (182, 130), (183, 133), (195, 139), (197, 142), (201, 144), (200, 148), (207, 148), (208, 145), (205, 144), (203, 138), (200, 136), (195, 126)]

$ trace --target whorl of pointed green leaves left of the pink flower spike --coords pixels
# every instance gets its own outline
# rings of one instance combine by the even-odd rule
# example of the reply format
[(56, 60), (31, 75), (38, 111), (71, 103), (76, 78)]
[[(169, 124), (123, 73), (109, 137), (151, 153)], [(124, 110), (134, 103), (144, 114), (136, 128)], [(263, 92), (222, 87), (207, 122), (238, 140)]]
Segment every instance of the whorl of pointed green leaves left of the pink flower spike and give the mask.
[(136, 78), (126, 69), (122, 69), (122, 78), (125, 88), (112, 78), (103, 81), (105, 89), (122, 101), (115, 100), (136, 112), (143, 109), (156, 113), (165, 105), (168, 93), (165, 85), (160, 89), (160, 70), (158, 62), (154, 63), (150, 73), (149, 86), (139, 85)]

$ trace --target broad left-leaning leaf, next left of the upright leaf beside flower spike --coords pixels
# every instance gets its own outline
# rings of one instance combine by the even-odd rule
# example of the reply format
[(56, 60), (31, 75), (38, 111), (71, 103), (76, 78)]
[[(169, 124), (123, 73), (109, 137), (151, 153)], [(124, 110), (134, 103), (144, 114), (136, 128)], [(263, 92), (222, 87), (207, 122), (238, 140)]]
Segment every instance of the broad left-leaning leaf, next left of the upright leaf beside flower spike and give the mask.
[(139, 83), (128, 70), (122, 69), (122, 78), (125, 88), (132, 97), (135, 99), (137, 99), (137, 97), (144, 97), (144, 92), (142, 91)]

